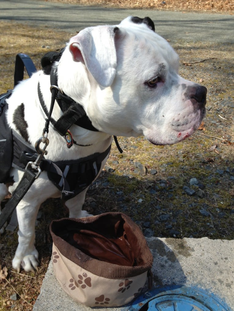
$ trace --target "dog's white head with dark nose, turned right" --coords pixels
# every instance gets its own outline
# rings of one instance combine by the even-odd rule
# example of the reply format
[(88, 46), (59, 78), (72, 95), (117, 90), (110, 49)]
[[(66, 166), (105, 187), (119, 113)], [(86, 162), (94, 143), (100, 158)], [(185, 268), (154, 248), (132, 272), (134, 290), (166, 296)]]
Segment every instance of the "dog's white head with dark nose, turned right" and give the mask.
[(178, 75), (178, 55), (154, 32), (149, 17), (86, 28), (71, 38), (64, 54), (70, 59), (64, 70), (70, 66), (76, 75), (67, 90), (66, 83), (62, 87), (84, 105), (100, 131), (143, 134), (164, 145), (182, 141), (199, 127), (207, 90)]

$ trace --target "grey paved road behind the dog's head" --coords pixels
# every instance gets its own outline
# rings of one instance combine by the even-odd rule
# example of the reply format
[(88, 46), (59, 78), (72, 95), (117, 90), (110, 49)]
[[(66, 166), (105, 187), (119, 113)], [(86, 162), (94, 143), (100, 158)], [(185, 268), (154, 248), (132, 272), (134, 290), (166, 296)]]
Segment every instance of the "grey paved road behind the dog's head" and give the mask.
[(85, 7), (38, 0), (0, 0), (1, 20), (47, 25), (70, 33), (87, 26), (119, 24), (129, 15), (149, 16), (155, 23), (156, 32), (172, 43), (178, 40), (234, 42), (233, 15)]

